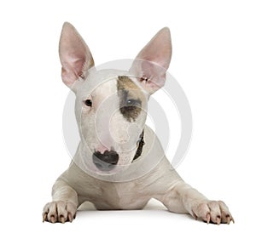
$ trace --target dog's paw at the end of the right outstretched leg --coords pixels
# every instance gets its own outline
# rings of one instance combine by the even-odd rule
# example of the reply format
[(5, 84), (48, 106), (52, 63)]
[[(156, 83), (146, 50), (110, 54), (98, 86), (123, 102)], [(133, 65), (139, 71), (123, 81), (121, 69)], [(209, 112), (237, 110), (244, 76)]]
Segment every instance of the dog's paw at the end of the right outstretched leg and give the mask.
[(196, 203), (192, 207), (193, 217), (195, 219), (202, 219), (203, 221), (213, 224), (230, 224), (232, 221), (235, 223), (229, 208), (222, 201), (206, 201)]

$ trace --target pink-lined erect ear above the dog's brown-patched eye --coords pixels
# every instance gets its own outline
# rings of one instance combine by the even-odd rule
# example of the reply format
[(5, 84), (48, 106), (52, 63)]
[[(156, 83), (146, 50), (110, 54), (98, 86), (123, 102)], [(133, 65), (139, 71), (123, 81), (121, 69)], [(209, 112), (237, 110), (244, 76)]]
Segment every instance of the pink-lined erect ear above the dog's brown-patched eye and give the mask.
[(153, 94), (164, 86), (171, 58), (171, 34), (169, 28), (165, 27), (137, 55), (131, 65), (131, 74), (139, 78), (148, 94)]

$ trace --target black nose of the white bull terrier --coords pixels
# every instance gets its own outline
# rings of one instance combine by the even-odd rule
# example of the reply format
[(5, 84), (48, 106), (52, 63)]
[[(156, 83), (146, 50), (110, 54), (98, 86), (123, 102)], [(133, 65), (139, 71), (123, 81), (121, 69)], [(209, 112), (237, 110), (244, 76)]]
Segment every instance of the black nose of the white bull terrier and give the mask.
[(119, 155), (116, 151), (96, 151), (92, 155), (92, 161), (102, 171), (110, 171), (119, 161)]

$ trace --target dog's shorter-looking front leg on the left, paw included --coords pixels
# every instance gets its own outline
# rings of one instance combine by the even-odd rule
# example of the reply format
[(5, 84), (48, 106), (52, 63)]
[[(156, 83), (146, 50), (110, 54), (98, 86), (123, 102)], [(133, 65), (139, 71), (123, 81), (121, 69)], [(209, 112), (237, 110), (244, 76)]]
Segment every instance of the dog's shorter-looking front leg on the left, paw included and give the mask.
[(78, 195), (73, 188), (61, 179), (53, 185), (52, 202), (44, 206), (43, 221), (51, 223), (73, 221), (78, 208)]

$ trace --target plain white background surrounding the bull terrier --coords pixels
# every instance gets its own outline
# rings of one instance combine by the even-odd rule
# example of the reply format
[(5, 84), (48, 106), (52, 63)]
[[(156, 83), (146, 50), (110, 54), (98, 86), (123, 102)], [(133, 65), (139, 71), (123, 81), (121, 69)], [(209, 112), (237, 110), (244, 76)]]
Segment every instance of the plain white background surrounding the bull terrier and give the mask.
[[(253, 234), (256, 14), (253, 1), (1, 1), (1, 217), (4, 238), (224, 238)], [(81, 212), (42, 223), (55, 178), (69, 164), (61, 117), (58, 41), (79, 30), (96, 65), (133, 58), (163, 26), (172, 31), (170, 73), (186, 92), (194, 134), (177, 168), (190, 185), (223, 199), (235, 225), (166, 212)], [(159, 208), (160, 210), (155, 210)]]

